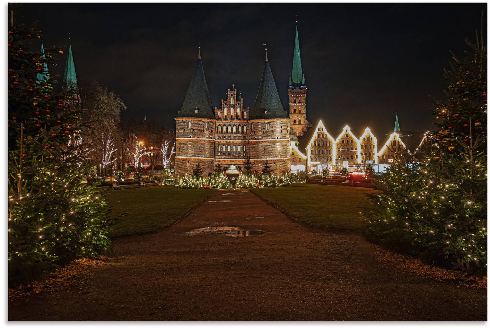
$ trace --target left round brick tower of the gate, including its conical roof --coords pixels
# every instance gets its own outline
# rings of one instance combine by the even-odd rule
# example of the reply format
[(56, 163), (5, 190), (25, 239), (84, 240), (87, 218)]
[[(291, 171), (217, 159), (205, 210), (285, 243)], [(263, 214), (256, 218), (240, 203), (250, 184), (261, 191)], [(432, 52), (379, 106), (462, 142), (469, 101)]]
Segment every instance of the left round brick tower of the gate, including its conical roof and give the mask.
[(175, 117), (175, 175), (191, 173), (197, 164), (202, 174), (214, 171), (216, 119), (209, 96), (200, 48), (184, 103)]

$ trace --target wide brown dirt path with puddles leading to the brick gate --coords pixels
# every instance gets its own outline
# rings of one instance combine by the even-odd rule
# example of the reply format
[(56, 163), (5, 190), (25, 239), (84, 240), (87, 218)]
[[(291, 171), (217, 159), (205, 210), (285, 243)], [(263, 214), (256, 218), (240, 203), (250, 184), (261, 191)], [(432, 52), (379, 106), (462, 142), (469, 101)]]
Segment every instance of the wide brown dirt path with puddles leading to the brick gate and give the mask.
[[(267, 234), (185, 234), (208, 226)], [(359, 234), (308, 228), (247, 190), (218, 190), (169, 230), (115, 240), (113, 261), (79, 292), (11, 303), (9, 319), (487, 320), (486, 291), (397, 272), (369, 252)]]

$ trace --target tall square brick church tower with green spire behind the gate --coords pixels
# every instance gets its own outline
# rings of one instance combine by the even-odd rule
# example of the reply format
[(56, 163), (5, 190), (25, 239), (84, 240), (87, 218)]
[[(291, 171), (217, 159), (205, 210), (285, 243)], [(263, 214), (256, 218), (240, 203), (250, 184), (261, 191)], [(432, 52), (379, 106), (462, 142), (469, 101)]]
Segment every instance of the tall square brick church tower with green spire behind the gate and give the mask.
[(297, 26), (294, 39), (293, 73), (289, 75), (288, 95), (291, 128), (296, 136), (302, 136), (310, 124), (306, 120), (306, 82), (301, 69)]

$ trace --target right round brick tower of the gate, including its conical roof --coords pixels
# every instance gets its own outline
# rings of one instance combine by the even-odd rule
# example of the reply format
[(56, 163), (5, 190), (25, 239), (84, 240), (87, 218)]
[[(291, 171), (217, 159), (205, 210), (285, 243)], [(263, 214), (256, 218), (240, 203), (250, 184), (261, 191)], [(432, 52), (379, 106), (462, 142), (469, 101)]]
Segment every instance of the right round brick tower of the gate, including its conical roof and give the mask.
[(272, 172), (280, 175), (291, 170), (289, 122), (270, 71), (266, 48), (264, 72), (248, 120), (253, 170), (260, 172), (265, 162), (269, 162)]

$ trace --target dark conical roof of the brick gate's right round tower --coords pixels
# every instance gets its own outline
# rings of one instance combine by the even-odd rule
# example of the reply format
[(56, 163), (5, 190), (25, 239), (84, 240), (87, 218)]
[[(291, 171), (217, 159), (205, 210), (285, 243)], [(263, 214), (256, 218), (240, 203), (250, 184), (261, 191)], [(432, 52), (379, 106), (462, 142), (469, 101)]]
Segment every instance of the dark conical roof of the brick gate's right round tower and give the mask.
[[(267, 114), (265, 113), (266, 110)], [(262, 79), (260, 80), (259, 92), (250, 112), (250, 119), (254, 118), (289, 118), (282, 107), (274, 77), (270, 71), (269, 61), (267, 60), (267, 48), (266, 64), (262, 73)]]

